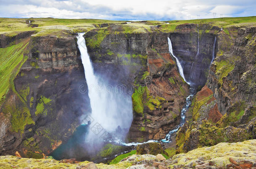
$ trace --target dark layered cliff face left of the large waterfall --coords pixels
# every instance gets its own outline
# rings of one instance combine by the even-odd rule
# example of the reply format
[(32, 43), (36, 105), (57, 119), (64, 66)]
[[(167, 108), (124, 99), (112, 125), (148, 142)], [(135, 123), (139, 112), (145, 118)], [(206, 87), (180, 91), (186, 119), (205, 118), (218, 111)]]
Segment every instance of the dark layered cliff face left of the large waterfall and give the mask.
[[(34, 151), (49, 154), (71, 136), (80, 125), (81, 115), (90, 112), (75, 37), (31, 37), (29, 48), (28, 59), (14, 86), (33, 123), (26, 125), (22, 134), (9, 127), (8, 134), (0, 140), (0, 154), (15, 151), (27, 157), (35, 157)], [(3, 110), (10, 101), (19, 104), (15, 97), (15, 93), (10, 93)]]

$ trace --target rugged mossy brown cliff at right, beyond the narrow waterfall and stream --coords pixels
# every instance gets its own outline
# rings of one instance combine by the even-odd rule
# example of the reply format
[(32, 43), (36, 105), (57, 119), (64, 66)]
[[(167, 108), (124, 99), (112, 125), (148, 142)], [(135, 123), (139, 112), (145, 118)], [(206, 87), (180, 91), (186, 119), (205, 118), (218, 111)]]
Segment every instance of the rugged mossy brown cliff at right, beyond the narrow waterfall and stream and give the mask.
[(193, 98), (193, 122), (177, 133), (177, 151), (219, 142), (255, 139), (256, 28), (235, 28), (217, 35), (218, 53), (206, 85)]

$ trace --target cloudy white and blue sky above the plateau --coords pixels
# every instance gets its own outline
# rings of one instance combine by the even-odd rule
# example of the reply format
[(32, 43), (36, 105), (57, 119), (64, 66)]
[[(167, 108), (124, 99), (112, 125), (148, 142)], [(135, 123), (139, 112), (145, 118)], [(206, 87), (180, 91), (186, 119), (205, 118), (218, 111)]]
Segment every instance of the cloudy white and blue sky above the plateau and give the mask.
[(180, 20), (255, 16), (255, 0), (0, 0), (0, 18)]

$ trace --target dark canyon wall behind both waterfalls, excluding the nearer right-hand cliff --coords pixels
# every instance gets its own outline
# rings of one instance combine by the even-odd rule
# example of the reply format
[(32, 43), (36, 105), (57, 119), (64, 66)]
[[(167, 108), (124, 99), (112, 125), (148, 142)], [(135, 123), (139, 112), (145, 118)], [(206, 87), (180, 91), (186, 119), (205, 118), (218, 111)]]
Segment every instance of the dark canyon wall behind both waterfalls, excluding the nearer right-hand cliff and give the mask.
[[(133, 122), (128, 141), (163, 139), (180, 122), (189, 86), (169, 54), (167, 37), (185, 77), (194, 62), (193, 76), (188, 79), (195, 86), (205, 83), (219, 28), (199, 28), (197, 56), (195, 24), (179, 25), (172, 33), (155, 26), (131, 33), (122, 25), (110, 25), (84, 35), (95, 73), (109, 84), (124, 85), (131, 96)], [(67, 33), (31, 36), (24, 57), (27, 60), (1, 105), (0, 154), (42, 157), (67, 141), (80, 125), (79, 118), (90, 112), (84, 70), (76, 38)]]

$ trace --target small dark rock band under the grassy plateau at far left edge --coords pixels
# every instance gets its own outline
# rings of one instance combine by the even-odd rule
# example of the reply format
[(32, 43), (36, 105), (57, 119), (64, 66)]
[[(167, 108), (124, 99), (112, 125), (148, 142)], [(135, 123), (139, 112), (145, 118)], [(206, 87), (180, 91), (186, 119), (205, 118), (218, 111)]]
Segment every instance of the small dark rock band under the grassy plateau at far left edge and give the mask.
[(20, 39), (28, 38), (34, 33), (35, 31), (31, 30), (31, 31), (18, 33), (17, 35), (14, 35), (14, 36), (7, 36), (5, 34), (0, 34), (0, 48), (6, 48), (7, 46), (13, 43), (14, 44), (18, 43)]

